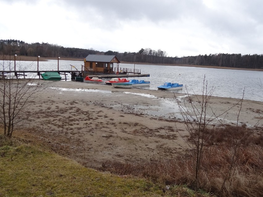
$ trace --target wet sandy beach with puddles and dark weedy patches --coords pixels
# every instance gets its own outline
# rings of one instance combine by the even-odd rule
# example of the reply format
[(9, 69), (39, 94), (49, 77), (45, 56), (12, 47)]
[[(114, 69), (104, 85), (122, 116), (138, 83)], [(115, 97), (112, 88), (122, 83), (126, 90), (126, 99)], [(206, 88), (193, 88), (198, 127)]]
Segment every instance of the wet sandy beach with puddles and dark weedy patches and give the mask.
[[(43, 94), (28, 112), (38, 113), (17, 134), (85, 166), (98, 168), (107, 160), (132, 162), (172, 157), (184, 146), (178, 132), (184, 136), (187, 132), (176, 102), (177, 97), (183, 104), (184, 94), (74, 81), (37, 83), (43, 87)], [(198, 106), (200, 96), (191, 98)], [(239, 101), (212, 97), (209, 106), (219, 115)], [(244, 100), (239, 122), (262, 127), (262, 104)], [(223, 123), (236, 124), (239, 109), (240, 104), (220, 117)], [(211, 110), (207, 115), (215, 116)], [(31, 129), (27, 131), (27, 127)]]

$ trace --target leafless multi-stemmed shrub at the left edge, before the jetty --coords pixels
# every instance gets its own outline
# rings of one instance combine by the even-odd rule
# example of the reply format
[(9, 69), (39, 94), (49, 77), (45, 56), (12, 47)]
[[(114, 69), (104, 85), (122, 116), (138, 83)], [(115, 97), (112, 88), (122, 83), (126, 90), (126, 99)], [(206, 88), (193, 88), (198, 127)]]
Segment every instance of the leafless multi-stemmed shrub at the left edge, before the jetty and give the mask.
[[(1, 65), (5, 68), (5, 61)], [(7, 61), (9, 71), (11, 71), (10, 61)], [(8, 75), (8, 73), (7, 73)], [(32, 116), (29, 113), (31, 104), (41, 95), (43, 84), (34, 79), (13, 79), (2, 76), (0, 80), (0, 124), (3, 125), (4, 135), (11, 137), (13, 131), (23, 120)]]

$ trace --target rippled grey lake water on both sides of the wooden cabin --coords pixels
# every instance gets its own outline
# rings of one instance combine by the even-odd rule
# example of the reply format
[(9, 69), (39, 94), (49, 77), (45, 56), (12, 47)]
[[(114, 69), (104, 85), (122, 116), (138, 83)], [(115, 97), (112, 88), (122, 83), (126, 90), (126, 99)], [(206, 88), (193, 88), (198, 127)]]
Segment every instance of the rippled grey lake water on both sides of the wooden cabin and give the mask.
[[(83, 61), (59, 60), (59, 70), (76, 70), (71, 68), (70, 64), (78, 70), (81, 70), (81, 64), (84, 65)], [(14, 63), (12, 61), (10, 65), (13, 70)], [(0, 66), (9, 70), (9, 62), (1, 62)], [(119, 64), (119, 68), (133, 69), (134, 64)], [(242, 98), (244, 90), (244, 99), (263, 101), (263, 89), (258, 85), (260, 80), (263, 83), (263, 72), (144, 64), (135, 64), (135, 68), (140, 69), (142, 74), (150, 74), (150, 77), (128, 78), (150, 81), (151, 85), (143, 87), (143, 89), (157, 90), (157, 86), (163, 85), (165, 82), (173, 82), (184, 84), (182, 90), (174, 90), (174, 92), (184, 93), (187, 88), (190, 94), (202, 94), (205, 77), (208, 90), (212, 87), (215, 88), (213, 96)], [(37, 70), (37, 62), (16, 61), (16, 70)], [(39, 62), (39, 70), (57, 70), (57, 60)], [(29, 76), (38, 77), (36, 74), (29, 74)], [(65, 76), (61, 76), (65, 78)], [(70, 76), (68, 78), (70, 79)]]

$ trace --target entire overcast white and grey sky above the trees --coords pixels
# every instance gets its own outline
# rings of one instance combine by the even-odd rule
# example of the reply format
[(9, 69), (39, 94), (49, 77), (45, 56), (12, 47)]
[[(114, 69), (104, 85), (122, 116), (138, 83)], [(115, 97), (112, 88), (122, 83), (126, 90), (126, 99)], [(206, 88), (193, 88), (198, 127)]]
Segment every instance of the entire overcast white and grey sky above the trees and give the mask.
[(0, 0), (0, 39), (167, 56), (263, 54), (262, 0)]

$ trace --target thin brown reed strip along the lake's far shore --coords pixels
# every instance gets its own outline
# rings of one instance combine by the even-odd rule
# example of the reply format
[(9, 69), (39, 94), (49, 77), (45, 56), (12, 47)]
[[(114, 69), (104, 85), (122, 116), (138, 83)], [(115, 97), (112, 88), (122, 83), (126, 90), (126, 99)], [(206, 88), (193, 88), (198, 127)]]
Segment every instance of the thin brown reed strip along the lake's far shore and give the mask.
[[(6, 55), (0, 56), (0, 60), (14, 61), (14, 56)], [(57, 60), (57, 57), (41, 57), (39, 61), (47, 60)], [(70, 60), (70, 61), (83, 61), (82, 58), (69, 58), (61, 57), (60, 60)], [(16, 57), (16, 61), (37, 61), (37, 57), (34, 56), (24, 56), (19, 55)], [(232, 69), (232, 70), (247, 70), (247, 71), (263, 71), (263, 69), (253, 69), (253, 68), (232, 68), (232, 67), (220, 67), (220, 66), (203, 66), (203, 65), (192, 65), (192, 64), (150, 64), (150, 63), (140, 63), (140, 62), (121, 62), (122, 64), (147, 64), (147, 65), (164, 65), (164, 66), (185, 66), (185, 67), (199, 67), (199, 68), (218, 68), (218, 69)]]

